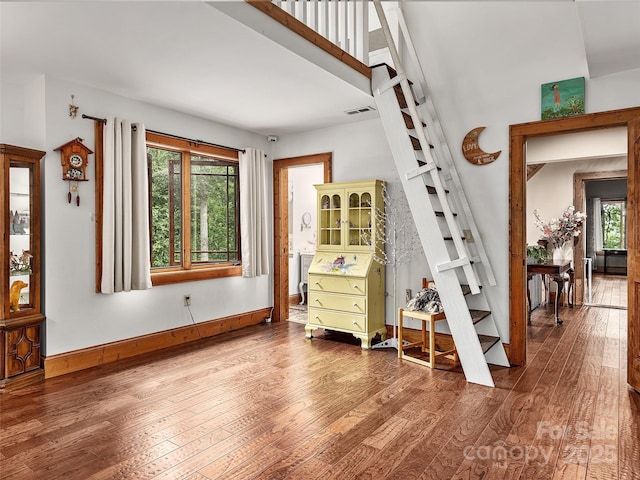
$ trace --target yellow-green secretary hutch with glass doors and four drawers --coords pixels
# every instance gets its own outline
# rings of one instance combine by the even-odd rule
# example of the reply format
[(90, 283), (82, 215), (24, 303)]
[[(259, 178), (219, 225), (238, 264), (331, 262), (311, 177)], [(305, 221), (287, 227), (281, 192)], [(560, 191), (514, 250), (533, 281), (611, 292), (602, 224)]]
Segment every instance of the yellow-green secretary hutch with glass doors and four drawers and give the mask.
[[(322, 328), (350, 333), (371, 348), (384, 340), (384, 211), (380, 180), (315, 185), (318, 246), (309, 266), (307, 338)], [(382, 229), (382, 230), (381, 230)], [(376, 250), (377, 249), (377, 250)]]

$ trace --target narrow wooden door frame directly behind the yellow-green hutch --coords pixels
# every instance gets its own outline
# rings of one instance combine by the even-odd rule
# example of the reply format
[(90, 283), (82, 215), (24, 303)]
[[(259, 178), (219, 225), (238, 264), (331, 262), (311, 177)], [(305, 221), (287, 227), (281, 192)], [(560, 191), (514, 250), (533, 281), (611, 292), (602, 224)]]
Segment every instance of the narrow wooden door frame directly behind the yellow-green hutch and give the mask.
[(289, 167), (321, 164), (331, 182), (331, 152), (273, 161), (273, 312), (274, 322), (289, 318)]

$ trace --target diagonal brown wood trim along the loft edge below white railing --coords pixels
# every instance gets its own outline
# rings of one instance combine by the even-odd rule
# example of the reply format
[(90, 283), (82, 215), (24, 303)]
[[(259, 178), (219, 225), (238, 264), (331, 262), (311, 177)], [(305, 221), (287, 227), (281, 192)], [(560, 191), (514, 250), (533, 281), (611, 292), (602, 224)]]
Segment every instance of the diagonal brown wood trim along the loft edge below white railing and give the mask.
[(269, 0), (245, 0), (252, 7), (257, 8), (265, 15), (271, 17), (276, 22), (284, 25), (289, 30), (297, 33), (305, 40), (313, 43), (316, 47), (324, 50), (329, 55), (334, 56), (345, 65), (353, 68), (355, 71), (360, 72), (367, 78), (371, 78), (371, 68), (362, 63), (357, 58), (351, 56), (349, 53), (342, 50), (337, 45), (331, 43), (325, 37), (315, 32), (300, 20), (285, 12), (283, 9), (274, 5)]

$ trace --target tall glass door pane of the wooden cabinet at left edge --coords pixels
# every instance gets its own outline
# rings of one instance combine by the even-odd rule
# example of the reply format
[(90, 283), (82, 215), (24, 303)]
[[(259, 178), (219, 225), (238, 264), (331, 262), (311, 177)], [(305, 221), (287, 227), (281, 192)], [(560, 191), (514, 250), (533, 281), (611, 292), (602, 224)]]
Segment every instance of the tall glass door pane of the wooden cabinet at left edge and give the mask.
[[(9, 169), (9, 286), (10, 301), (19, 296), (19, 309), (31, 306), (31, 185), (29, 167)], [(13, 309), (13, 303), (10, 302)], [(17, 310), (16, 310), (17, 311)]]

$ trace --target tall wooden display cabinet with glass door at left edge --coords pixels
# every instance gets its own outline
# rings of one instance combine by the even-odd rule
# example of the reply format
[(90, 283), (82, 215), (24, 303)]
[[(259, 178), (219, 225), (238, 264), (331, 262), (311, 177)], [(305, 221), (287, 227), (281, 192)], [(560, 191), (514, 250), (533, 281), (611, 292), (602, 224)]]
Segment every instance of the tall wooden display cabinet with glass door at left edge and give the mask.
[(40, 304), (40, 160), (0, 144), (0, 392), (44, 378)]

